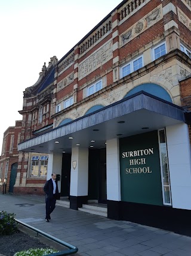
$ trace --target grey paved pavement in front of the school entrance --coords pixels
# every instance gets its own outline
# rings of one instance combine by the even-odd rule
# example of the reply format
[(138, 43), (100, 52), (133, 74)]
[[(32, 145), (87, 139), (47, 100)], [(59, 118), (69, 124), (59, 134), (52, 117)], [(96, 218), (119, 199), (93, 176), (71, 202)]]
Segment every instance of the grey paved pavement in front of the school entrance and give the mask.
[(191, 255), (191, 237), (133, 222), (113, 221), (61, 206), (56, 206), (51, 221), (45, 222), (42, 196), (0, 194), (1, 210), (14, 212), (17, 219), (77, 246), (78, 255)]

